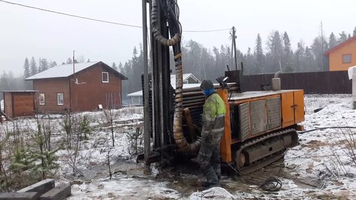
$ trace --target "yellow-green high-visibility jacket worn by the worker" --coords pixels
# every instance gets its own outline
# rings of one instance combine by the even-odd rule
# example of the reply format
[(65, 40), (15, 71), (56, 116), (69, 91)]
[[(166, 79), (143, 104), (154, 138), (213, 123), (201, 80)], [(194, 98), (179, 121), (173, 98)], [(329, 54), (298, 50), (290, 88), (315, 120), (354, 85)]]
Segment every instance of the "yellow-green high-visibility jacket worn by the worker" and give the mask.
[(225, 103), (216, 92), (204, 103), (201, 137), (221, 136), (224, 133)]

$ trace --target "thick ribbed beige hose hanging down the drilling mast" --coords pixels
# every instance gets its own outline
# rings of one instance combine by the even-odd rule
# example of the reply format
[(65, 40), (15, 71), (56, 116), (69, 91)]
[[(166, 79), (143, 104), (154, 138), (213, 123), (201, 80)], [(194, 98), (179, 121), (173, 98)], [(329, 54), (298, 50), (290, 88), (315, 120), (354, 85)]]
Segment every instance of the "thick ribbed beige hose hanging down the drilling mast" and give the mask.
[(197, 139), (192, 143), (188, 143), (186, 137), (183, 134), (182, 119), (183, 119), (183, 66), (181, 61), (181, 27), (177, 19), (177, 15), (172, 11), (172, 8), (166, 3), (166, 1), (161, 2), (161, 8), (168, 12), (168, 23), (170, 28), (171, 36), (174, 34), (172, 39), (166, 39), (159, 30), (157, 26), (159, 9), (158, 1), (152, 0), (152, 32), (154, 34), (155, 40), (159, 41), (164, 46), (173, 46), (174, 59), (175, 59), (175, 72), (176, 72), (176, 91), (175, 91), (175, 114), (173, 117), (173, 137), (175, 143), (177, 144), (177, 152), (182, 152), (184, 154), (196, 155), (199, 152), (201, 141)]

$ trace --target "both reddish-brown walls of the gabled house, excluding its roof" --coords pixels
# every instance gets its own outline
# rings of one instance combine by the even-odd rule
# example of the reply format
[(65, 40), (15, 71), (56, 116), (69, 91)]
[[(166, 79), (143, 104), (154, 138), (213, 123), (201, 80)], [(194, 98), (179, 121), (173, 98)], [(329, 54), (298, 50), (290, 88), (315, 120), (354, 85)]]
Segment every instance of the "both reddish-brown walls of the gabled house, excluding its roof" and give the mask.
[[(108, 72), (109, 83), (102, 83), (101, 72)], [(78, 80), (77, 84), (75, 79)], [(97, 110), (99, 104), (103, 108), (121, 108), (121, 78), (100, 63), (77, 72), (75, 76), (34, 80), (33, 89), (39, 91), (36, 105), (43, 112), (63, 112), (70, 107), (73, 111), (92, 111)], [(64, 94), (63, 106), (57, 105), (57, 92)], [(44, 106), (39, 106), (38, 96), (41, 93), (45, 93)]]

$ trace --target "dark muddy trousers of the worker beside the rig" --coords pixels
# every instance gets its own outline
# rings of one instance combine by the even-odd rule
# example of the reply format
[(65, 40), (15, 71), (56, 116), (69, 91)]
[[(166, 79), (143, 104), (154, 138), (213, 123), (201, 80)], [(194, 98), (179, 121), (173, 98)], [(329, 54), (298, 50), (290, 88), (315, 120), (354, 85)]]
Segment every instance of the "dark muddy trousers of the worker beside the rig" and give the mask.
[(197, 158), (204, 174), (206, 170), (212, 167), (218, 178), (221, 176), (220, 141), (222, 135), (223, 132), (202, 135), (201, 147)]

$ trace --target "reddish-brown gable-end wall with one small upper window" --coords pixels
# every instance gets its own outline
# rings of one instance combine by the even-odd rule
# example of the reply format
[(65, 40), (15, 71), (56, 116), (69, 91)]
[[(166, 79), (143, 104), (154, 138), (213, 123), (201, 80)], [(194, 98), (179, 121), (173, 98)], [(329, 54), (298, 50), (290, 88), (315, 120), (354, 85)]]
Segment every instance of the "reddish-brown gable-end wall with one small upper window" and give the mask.
[[(109, 83), (102, 83), (102, 72), (108, 72)], [(104, 66), (93, 66), (76, 74), (78, 84), (72, 84), (72, 108), (75, 111), (97, 110), (115, 106), (121, 108), (121, 79)]]

